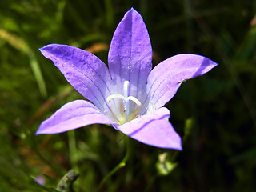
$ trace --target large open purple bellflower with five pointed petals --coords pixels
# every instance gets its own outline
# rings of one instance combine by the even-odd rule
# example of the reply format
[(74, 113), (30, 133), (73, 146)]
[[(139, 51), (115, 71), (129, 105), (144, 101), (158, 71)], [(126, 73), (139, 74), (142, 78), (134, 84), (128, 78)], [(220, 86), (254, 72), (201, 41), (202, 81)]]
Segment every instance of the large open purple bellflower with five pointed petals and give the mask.
[(36, 134), (57, 134), (94, 123), (150, 146), (182, 150), (179, 135), (163, 107), (186, 79), (217, 64), (196, 54), (178, 54), (152, 70), (152, 48), (142, 16), (129, 10), (114, 32), (108, 66), (94, 54), (73, 46), (50, 44), (40, 49), (83, 97), (66, 103), (40, 125)]

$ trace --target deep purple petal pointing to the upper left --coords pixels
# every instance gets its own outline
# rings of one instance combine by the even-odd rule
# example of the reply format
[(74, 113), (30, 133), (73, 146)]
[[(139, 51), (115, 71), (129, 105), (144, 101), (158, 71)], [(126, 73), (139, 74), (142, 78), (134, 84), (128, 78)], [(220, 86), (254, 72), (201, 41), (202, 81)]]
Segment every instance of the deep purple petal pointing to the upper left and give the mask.
[(111, 94), (107, 86), (110, 73), (99, 58), (86, 50), (58, 44), (44, 46), (40, 51), (54, 62), (74, 89), (103, 111), (106, 105), (105, 95)]

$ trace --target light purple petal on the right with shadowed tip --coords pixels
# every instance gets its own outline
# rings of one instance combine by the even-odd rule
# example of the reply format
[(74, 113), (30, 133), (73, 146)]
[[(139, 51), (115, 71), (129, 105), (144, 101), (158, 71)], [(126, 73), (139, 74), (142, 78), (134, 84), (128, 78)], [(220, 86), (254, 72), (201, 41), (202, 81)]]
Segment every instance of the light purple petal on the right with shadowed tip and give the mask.
[(159, 63), (148, 77), (149, 109), (156, 110), (169, 102), (182, 82), (205, 74), (217, 63), (196, 54), (178, 54)]

